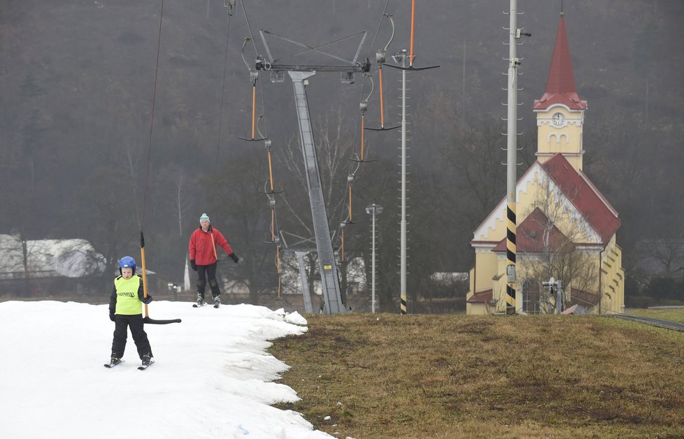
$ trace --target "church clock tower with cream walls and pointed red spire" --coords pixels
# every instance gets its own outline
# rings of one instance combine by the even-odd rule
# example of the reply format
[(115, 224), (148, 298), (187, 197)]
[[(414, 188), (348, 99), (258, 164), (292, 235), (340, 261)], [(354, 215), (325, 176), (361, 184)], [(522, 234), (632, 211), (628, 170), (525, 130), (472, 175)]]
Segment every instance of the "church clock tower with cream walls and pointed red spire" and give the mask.
[(537, 160), (544, 163), (560, 153), (576, 171), (581, 171), (587, 101), (577, 94), (563, 13), (556, 32), (546, 90), (541, 99), (534, 101), (532, 109), (537, 121)]

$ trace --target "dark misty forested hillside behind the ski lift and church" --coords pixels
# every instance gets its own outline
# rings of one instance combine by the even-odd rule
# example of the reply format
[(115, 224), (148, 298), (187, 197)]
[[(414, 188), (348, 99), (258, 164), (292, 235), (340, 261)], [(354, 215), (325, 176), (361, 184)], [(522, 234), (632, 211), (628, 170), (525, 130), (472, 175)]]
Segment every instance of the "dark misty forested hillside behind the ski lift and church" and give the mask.
[[(375, 72), (375, 52), (391, 33), (381, 20), (385, 6), (397, 24), (392, 54), (408, 49), (411, 1), (245, 0), (231, 17), (221, 0), (163, 4), (143, 226), (154, 269), (178, 280), (187, 236), (203, 211), (233, 237), (238, 254), (271, 258), (270, 247), (262, 245), (270, 238), (270, 210), (257, 194), (268, 179), (266, 152), (263, 143), (237, 138), (250, 135), (252, 90), (241, 57), (250, 29), (255, 41), (245, 47), (248, 63), (256, 55), (252, 43), (266, 56), (259, 29), (311, 47), (336, 41), (320, 50), (345, 59), (353, 57), (360, 37), (341, 38), (365, 30), (359, 59), (369, 57)], [(161, 5), (0, 0), (0, 233), (86, 238), (108, 258), (136, 250)], [(519, 25), (532, 33), (518, 48), (524, 58), (522, 173), (534, 160), (532, 101), (546, 85), (561, 1), (520, 0), (518, 7), (525, 11)], [(507, 1), (417, 2), (415, 64), (441, 67), (409, 75), (411, 282), (432, 271), (466, 271), (472, 231), (503, 196), (504, 10)], [(565, 1), (564, 14), (578, 93), (589, 104), (585, 172), (620, 213), (618, 243), (629, 271), (639, 238), (684, 233), (684, 3)], [(276, 58), (301, 50), (277, 38), (269, 48)], [(306, 56), (330, 60), (313, 55)], [(385, 116), (395, 124), (399, 73), (384, 73)], [(379, 124), (373, 76), (367, 125)], [(369, 80), (355, 79), (342, 85), (339, 74), (318, 73), (308, 87), (319, 154), (331, 164), (322, 173), (332, 229), (344, 219), (347, 159), (359, 143), (359, 101), (370, 92)], [(285, 189), (277, 201), (278, 226), (304, 234), (293, 214), (306, 224), (310, 210), (293, 169), (297, 120), (289, 82), (259, 76), (257, 115), (265, 115), (259, 127), (273, 141), (274, 179)], [(354, 199), (357, 212), (369, 202), (389, 208), (380, 229), (390, 289), (396, 277), (397, 136), (366, 134), (369, 154), (379, 160), (358, 171)], [(334, 152), (346, 154), (336, 167)], [(348, 229), (350, 252), (367, 252), (367, 229)]]

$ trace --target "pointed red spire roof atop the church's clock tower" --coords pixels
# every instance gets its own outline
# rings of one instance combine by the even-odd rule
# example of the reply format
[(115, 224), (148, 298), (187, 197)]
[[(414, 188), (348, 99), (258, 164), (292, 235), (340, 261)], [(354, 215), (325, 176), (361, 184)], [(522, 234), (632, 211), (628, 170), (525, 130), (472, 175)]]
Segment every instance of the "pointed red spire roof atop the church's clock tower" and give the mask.
[(560, 15), (560, 23), (553, 48), (551, 67), (548, 71), (546, 92), (539, 101), (534, 101), (534, 110), (546, 110), (555, 103), (562, 103), (571, 110), (585, 110), (587, 101), (582, 101), (575, 87), (575, 75), (572, 71), (568, 36), (565, 31), (565, 18)]

